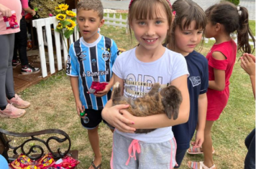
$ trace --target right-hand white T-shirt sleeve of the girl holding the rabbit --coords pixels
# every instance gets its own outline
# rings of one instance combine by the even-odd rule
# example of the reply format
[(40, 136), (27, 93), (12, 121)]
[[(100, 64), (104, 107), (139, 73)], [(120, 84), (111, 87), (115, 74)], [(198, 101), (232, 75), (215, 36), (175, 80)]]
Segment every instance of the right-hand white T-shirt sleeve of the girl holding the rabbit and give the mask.
[(186, 59), (181, 54), (178, 54), (178, 56), (175, 57), (175, 62), (173, 63), (173, 71), (170, 82), (185, 74), (189, 75)]

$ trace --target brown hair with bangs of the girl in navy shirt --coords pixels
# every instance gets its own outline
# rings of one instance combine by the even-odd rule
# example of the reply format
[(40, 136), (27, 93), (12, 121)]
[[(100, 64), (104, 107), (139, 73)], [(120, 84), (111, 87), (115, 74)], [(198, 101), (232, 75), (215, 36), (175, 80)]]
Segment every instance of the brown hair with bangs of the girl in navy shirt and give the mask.
[[(192, 21), (196, 21), (194, 29), (205, 29), (207, 24), (206, 14), (196, 2), (192, 0), (177, 0), (173, 3), (173, 11), (175, 12), (175, 19), (173, 21), (173, 29), (170, 35), (166, 37), (165, 44), (168, 44), (171, 50), (175, 51), (175, 36), (174, 32), (176, 26), (180, 30), (187, 29)], [(204, 34), (203, 34), (204, 36)], [(201, 41), (201, 47), (204, 41)], [(201, 48), (200, 47), (200, 48)]]

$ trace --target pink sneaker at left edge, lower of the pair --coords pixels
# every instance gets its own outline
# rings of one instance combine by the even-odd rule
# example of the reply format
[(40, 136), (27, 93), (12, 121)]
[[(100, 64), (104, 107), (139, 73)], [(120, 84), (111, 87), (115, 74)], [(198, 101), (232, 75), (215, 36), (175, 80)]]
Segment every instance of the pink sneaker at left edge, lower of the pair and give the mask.
[(26, 110), (17, 109), (13, 105), (7, 104), (5, 110), (0, 110), (0, 117), (4, 118), (19, 118), (26, 113)]

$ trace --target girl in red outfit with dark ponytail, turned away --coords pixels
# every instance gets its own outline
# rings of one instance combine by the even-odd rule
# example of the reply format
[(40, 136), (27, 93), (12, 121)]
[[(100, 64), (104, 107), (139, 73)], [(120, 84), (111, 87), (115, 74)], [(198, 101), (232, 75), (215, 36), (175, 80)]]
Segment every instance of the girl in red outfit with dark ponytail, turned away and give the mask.
[[(237, 50), (252, 53), (249, 35), (255, 39), (249, 28), (248, 11), (242, 6), (234, 6), (229, 2), (215, 4), (206, 9), (207, 25), (205, 36), (214, 37), (215, 44), (211, 47), (206, 59), (209, 62), (209, 89), (207, 92), (208, 107), (206, 127), (204, 130), (204, 162), (188, 162), (190, 168), (215, 169), (212, 158), (211, 126), (219, 119), (222, 110), (229, 100), (229, 77), (232, 74)], [(230, 34), (237, 32), (237, 44)], [(237, 47), (238, 45), (238, 47)], [(254, 45), (255, 46), (255, 45)], [(191, 148), (193, 151), (194, 149)]]

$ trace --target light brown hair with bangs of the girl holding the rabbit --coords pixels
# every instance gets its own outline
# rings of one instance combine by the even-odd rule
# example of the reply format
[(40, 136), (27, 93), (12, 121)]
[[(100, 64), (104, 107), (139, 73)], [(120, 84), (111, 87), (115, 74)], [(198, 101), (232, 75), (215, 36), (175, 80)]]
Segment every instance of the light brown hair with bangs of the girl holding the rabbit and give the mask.
[(168, 26), (171, 29), (172, 26), (172, 9), (170, 8), (169, 0), (133, 0), (129, 6), (128, 13), (128, 25), (129, 32), (132, 37), (132, 31), (130, 27), (130, 23), (132, 23), (133, 19), (153, 19), (154, 16), (160, 15), (160, 9), (157, 4), (163, 4), (165, 9), (165, 14), (168, 16)]

